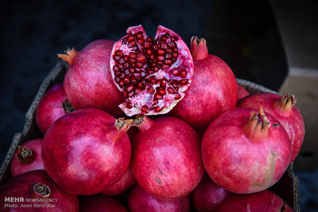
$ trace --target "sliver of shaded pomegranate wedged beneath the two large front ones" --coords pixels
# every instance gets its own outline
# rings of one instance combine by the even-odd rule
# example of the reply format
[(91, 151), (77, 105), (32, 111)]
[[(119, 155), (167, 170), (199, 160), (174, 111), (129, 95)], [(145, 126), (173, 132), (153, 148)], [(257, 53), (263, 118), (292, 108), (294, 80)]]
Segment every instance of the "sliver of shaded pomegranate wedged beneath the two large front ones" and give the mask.
[(125, 175), (115, 184), (106, 187), (101, 194), (109, 197), (117, 196), (125, 192), (136, 183), (137, 181), (133, 176), (131, 165), (129, 165)]

